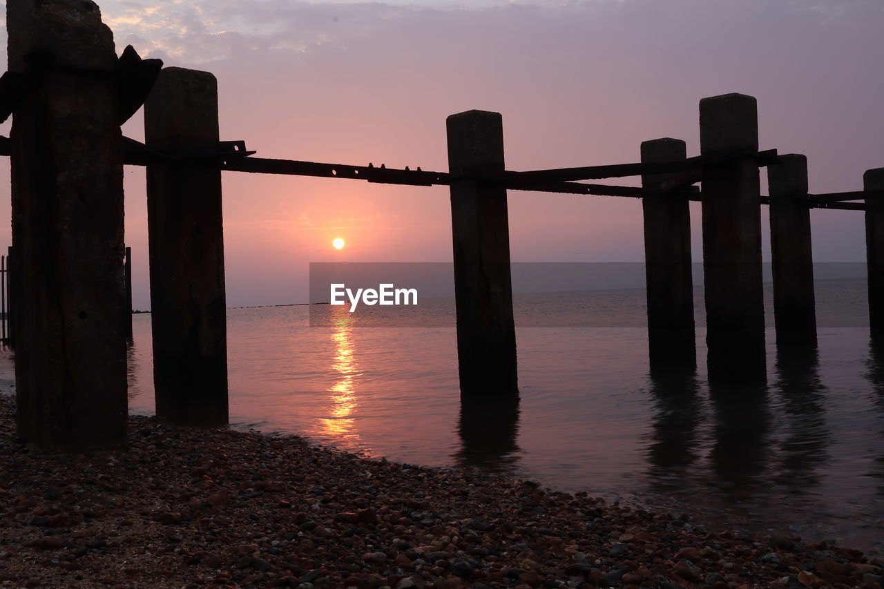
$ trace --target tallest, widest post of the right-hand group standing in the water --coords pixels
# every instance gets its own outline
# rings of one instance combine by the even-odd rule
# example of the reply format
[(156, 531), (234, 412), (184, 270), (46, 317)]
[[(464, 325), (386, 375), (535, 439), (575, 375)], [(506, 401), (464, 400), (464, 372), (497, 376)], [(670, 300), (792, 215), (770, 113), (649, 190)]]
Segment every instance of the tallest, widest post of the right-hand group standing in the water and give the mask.
[(758, 107), (741, 94), (700, 101), (700, 152), (741, 153), (703, 168), (703, 271), (710, 379), (766, 378)]

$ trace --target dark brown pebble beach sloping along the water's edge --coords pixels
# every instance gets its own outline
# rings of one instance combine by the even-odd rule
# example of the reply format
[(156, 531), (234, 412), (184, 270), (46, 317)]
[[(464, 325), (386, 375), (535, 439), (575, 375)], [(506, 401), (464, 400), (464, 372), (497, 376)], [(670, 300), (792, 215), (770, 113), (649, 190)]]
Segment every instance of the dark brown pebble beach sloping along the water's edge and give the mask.
[(863, 587), (884, 562), (478, 470), (130, 417), (124, 450), (42, 455), (0, 395), (0, 585)]

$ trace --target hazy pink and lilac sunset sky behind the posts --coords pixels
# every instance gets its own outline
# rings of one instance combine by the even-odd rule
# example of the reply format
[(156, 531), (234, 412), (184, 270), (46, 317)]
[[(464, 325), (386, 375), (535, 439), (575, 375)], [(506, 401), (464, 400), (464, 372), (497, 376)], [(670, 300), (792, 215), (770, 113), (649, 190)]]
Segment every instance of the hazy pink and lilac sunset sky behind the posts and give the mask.
[[(100, 6), (118, 52), (132, 44), (142, 57), (215, 73), (221, 138), (245, 140), (256, 157), (444, 172), (446, 117), (471, 109), (502, 114), (508, 170), (635, 162), (640, 143), (659, 137), (683, 139), (692, 156), (699, 100), (741, 92), (758, 98), (761, 149), (808, 157), (812, 193), (860, 190), (863, 172), (884, 166), (880, 0)], [(136, 113), (124, 133), (142, 140), (142, 125)], [(451, 260), (446, 187), (223, 180), (230, 306), (306, 302), (310, 262)], [(136, 309), (149, 309), (144, 181), (142, 168), (126, 168)], [(0, 185), (9, 186), (6, 158)], [(4, 188), (0, 247), (10, 243), (8, 211)], [(699, 212), (692, 204), (695, 260)], [(637, 199), (510, 192), (509, 214), (514, 261), (643, 257)], [(812, 225), (815, 261), (865, 259), (861, 212), (814, 210)], [(333, 249), (334, 238), (347, 246)], [(769, 256), (767, 233), (764, 247)]]

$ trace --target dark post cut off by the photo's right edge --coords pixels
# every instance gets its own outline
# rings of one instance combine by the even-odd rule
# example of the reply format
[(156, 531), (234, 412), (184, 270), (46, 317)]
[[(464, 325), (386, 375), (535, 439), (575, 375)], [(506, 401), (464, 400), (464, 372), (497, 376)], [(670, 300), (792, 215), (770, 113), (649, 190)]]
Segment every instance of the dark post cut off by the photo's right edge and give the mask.
[[(884, 190), (884, 168), (863, 174), (864, 190)], [(865, 199), (865, 264), (869, 281), (869, 326), (875, 340), (884, 340), (884, 200)]]

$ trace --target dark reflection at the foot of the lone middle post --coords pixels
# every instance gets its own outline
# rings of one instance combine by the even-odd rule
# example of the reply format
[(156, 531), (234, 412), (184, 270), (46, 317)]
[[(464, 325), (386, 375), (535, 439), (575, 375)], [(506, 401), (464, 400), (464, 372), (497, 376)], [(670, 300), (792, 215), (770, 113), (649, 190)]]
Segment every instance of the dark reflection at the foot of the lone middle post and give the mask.
[(454, 455), (461, 466), (484, 470), (511, 470), (518, 460), (519, 398), (461, 395), (458, 433), (461, 450)]

